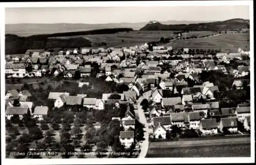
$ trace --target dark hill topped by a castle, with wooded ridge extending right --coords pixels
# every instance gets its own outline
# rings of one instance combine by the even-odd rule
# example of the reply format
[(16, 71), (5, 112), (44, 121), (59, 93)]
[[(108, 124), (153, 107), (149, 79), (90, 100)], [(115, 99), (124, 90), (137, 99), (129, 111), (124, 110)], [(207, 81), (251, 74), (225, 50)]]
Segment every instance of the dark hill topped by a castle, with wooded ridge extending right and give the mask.
[(224, 31), (250, 28), (249, 20), (229, 19), (225, 21), (190, 23), (190, 24), (162, 24), (158, 21), (147, 23), (140, 31)]

